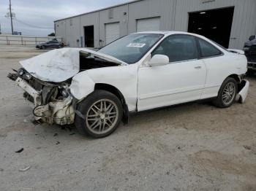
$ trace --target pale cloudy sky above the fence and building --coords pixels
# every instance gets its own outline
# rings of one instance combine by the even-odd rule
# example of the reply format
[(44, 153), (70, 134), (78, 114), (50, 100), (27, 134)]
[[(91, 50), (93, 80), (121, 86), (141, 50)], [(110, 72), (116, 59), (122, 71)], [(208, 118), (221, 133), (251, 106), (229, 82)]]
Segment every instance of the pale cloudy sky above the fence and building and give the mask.
[[(47, 36), (54, 31), (54, 20), (127, 1), (132, 0), (12, 0), (12, 12), (15, 12), (17, 18), (13, 21), (14, 31), (22, 32), (23, 35)], [(8, 8), (9, 0), (1, 0), (0, 24), (2, 33), (11, 33), (10, 18), (5, 17)], [(24, 23), (42, 28), (34, 28)]]

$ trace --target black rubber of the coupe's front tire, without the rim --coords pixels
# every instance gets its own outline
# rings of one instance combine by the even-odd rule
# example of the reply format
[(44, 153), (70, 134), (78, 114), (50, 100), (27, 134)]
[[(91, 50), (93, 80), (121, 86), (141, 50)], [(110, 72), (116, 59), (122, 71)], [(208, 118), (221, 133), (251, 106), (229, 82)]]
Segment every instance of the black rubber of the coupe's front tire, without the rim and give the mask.
[(86, 120), (83, 120), (82, 117), (75, 115), (75, 126), (76, 128), (78, 128), (78, 131), (83, 135), (91, 136), (93, 138), (104, 138), (113, 133), (121, 122), (123, 116), (123, 106), (121, 104), (121, 101), (116, 97), (116, 95), (105, 90), (95, 90), (93, 93), (88, 95), (85, 100), (81, 101), (78, 104), (77, 110), (86, 118), (86, 114), (89, 108), (91, 107), (91, 104), (95, 103), (96, 101), (99, 101), (100, 99), (109, 99), (113, 101), (118, 107), (118, 120), (116, 122), (116, 125), (107, 133), (96, 134), (91, 132), (91, 130), (87, 128)]

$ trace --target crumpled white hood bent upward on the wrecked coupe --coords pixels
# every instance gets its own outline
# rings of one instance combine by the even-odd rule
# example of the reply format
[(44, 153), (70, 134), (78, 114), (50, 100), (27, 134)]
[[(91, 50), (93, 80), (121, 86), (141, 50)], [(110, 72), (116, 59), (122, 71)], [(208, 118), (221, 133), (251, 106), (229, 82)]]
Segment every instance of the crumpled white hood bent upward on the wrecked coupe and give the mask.
[(127, 65), (123, 61), (86, 48), (62, 48), (45, 52), (25, 61), (20, 61), (26, 71), (33, 77), (45, 82), (64, 82), (78, 74), (80, 52), (97, 56), (106, 61)]

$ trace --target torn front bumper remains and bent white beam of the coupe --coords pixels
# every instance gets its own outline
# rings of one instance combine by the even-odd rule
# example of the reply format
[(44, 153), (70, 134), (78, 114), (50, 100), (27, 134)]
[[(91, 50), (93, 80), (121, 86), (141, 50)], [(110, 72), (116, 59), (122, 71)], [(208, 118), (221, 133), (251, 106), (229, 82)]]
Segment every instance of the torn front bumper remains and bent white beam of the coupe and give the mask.
[(42, 93), (35, 90), (26, 80), (18, 77), (16, 84), (34, 99), (34, 117), (37, 121), (48, 124), (69, 125), (75, 120), (75, 112), (72, 106), (72, 96), (51, 101), (42, 105)]

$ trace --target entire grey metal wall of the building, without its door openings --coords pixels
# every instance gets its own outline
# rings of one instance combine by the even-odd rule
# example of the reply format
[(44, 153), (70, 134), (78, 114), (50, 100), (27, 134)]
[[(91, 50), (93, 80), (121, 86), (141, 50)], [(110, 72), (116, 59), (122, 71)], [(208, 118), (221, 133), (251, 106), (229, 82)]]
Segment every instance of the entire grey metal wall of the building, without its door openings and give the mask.
[[(241, 49), (252, 34), (256, 34), (256, 1), (255, 0), (142, 0), (122, 4), (109, 9), (102, 9), (78, 17), (58, 20), (56, 36), (62, 36), (65, 43), (77, 47), (78, 37), (83, 36), (83, 26), (94, 25), (94, 45), (105, 45), (105, 24), (120, 23), (120, 37), (136, 32), (138, 19), (160, 17), (160, 30), (187, 31), (189, 12), (208, 9), (235, 7), (233, 25), (230, 34), (230, 48)], [(111, 12), (110, 12), (111, 10)], [(124, 14), (124, 13), (127, 14)], [(111, 13), (111, 14), (110, 14)], [(58, 26), (58, 27), (57, 27)], [(99, 43), (101, 42), (101, 43)]]

